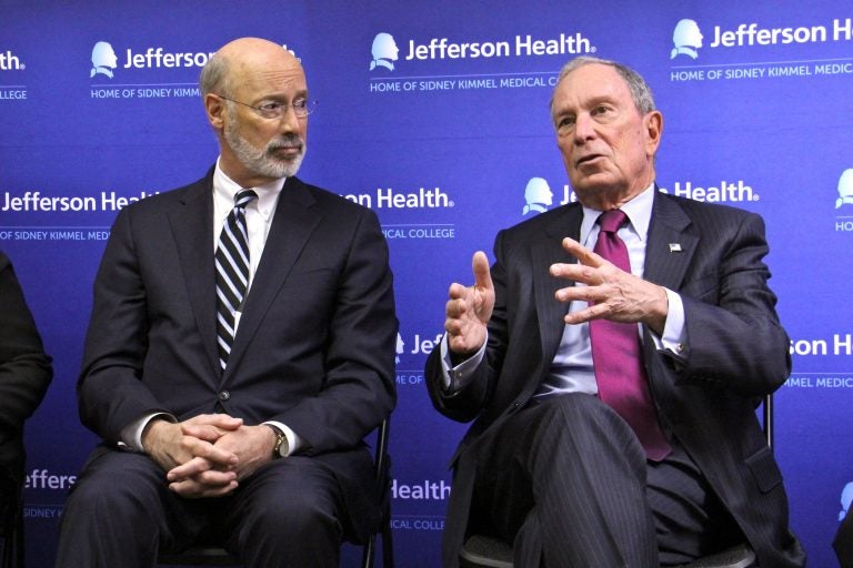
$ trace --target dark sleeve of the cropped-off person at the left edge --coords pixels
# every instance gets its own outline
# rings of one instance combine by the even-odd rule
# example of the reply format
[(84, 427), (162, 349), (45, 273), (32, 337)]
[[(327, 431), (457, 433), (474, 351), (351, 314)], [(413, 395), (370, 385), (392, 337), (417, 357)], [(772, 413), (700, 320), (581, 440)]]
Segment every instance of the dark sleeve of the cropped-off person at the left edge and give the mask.
[(9, 258), (0, 252), (0, 424), (20, 430), (53, 369)]

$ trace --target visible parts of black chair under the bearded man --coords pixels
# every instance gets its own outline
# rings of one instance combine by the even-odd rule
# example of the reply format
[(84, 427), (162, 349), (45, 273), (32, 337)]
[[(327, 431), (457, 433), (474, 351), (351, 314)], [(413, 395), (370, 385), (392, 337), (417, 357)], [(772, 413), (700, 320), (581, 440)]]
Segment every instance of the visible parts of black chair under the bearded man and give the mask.
[[(377, 429), (374, 450), (375, 490), (381, 504), (380, 521), (364, 544), (362, 567), (372, 568), (375, 557), (377, 535), (382, 535), (382, 567), (393, 568), (393, 542), (391, 537), (391, 456), (388, 452), (391, 418), (385, 418)], [(158, 564), (165, 566), (240, 566), (240, 561), (224, 548), (205, 544), (192, 546), (183, 552), (162, 554)]]

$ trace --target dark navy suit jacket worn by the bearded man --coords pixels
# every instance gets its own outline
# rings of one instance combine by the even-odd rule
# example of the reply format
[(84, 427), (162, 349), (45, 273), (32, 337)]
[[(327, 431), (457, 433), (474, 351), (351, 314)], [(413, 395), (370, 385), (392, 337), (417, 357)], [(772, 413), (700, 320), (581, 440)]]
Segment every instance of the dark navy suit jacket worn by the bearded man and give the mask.
[(398, 323), (377, 216), (288, 179), (222, 373), (212, 211), (211, 170), (118, 215), (78, 383), (83, 424), (114, 444), (158, 412), (281, 422), (335, 471), (363, 536), (377, 506), (362, 438), (395, 403)]

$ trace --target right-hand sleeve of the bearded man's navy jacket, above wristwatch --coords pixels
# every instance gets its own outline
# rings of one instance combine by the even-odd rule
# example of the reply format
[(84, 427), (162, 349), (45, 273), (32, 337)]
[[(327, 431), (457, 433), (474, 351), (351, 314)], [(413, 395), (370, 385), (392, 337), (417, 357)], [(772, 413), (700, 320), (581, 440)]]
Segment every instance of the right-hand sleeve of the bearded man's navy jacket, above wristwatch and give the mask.
[(373, 212), (362, 212), (347, 242), (329, 321), (323, 387), (274, 417), (304, 439), (309, 454), (357, 445), (397, 403), (393, 277)]

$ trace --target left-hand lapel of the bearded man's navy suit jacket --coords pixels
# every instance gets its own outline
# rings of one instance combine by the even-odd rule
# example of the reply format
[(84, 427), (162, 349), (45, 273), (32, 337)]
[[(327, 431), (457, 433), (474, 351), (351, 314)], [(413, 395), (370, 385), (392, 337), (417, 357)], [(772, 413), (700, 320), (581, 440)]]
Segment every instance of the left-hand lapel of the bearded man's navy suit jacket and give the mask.
[[(187, 295), (195, 325), (210, 363), (211, 384), (218, 377), (217, 352), (217, 285), (213, 265), (213, 170), (200, 182), (188, 187), (181, 206), (169, 212), (169, 225), (178, 247)], [(204, 254), (204, 252), (209, 254)]]

